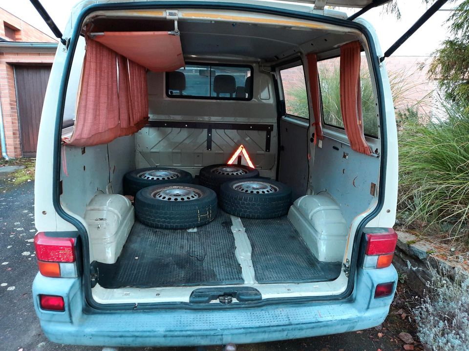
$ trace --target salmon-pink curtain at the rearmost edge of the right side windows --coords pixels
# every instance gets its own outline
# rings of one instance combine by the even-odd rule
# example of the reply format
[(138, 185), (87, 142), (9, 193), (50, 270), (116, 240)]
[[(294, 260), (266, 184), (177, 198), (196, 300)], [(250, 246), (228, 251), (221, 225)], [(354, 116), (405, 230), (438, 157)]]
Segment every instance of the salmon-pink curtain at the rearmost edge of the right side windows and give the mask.
[(352, 41), (341, 46), (341, 112), (352, 150), (371, 155), (363, 135), (360, 61), (360, 42)]

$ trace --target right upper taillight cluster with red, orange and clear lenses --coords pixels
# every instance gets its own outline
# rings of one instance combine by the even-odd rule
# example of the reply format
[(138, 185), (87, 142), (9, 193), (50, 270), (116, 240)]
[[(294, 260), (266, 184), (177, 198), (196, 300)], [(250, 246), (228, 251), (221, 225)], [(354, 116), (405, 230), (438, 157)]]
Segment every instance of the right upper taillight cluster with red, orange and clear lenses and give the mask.
[(389, 267), (396, 244), (397, 233), (392, 228), (365, 228), (362, 238), (362, 268)]

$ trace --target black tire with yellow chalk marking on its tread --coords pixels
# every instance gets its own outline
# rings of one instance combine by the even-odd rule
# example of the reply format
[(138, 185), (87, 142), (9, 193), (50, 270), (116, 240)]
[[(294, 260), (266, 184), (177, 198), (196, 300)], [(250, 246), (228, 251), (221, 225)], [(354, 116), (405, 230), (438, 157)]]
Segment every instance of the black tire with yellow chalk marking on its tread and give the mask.
[[(188, 195), (187, 192), (193, 192), (198, 197), (190, 198), (195, 195)], [(138, 191), (135, 196), (135, 215), (140, 222), (150, 227), (187, 229), (210, 222), (216, 215), (216, 204), (215, 192), (200, 185), (154, 185)]]

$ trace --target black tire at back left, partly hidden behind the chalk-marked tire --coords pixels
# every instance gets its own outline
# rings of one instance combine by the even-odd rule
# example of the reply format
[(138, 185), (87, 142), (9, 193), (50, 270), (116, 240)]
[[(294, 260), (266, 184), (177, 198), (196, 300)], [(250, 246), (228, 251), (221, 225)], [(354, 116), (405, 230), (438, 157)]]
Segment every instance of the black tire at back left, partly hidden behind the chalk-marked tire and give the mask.
[[(165, 175), (157, 175), (157, 176), (148, 176), (143, 178), (142, 176), (150, 172), (166, 172), (168, 173), (167, 176)], [(153, 178), (153, 179), (152, 179)], [(135, 171), (128, 172), (124, 176), (124, 195), (132, 195), (135, 196), (140, 189), (152, 186), (152, 185), (160, 185), (160, 184), (167, 184), (167, 183), (192, 183), (192, 174), (189, 172), (177, 169), (177, 168), (170, 168), (170, 167), (149, 167), (149, 168), (139, 168)]]

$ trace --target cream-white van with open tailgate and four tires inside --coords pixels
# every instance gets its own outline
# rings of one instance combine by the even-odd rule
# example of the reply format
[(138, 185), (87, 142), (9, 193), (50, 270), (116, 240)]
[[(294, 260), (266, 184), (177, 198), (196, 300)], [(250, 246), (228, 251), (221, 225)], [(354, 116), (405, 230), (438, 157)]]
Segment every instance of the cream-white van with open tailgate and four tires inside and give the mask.
[(389, 80), (371, 25), (325, 4), (376, 1), (75, 6), (37, 152), (33, 298), (50, 340), (242, 344), (383, 322)]

